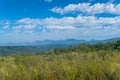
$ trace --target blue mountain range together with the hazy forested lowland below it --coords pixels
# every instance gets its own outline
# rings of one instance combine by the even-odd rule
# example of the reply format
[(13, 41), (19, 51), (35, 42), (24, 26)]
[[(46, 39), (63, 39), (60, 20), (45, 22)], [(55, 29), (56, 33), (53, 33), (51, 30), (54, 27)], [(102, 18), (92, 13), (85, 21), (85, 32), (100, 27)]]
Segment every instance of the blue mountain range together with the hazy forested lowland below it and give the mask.
[(107, 43), (120, 38), (110, 38), (106, 40), (44, 40), (27, 43), (2, 43), (0, 44), (0, 55), (8, 54), (32, 54), (49, 51), (50, 49), (67, 48), (71, 45), (79, 45), (81, 43), (96, 44), (96, 43)]

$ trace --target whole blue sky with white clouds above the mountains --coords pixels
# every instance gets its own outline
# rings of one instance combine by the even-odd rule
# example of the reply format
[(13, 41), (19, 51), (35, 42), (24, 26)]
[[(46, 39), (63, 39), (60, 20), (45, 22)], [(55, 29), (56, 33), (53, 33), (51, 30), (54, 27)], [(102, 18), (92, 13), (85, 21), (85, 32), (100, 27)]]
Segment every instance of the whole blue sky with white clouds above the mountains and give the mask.
[(120, 37), (120, 0), (0, 0), (0, 43)]

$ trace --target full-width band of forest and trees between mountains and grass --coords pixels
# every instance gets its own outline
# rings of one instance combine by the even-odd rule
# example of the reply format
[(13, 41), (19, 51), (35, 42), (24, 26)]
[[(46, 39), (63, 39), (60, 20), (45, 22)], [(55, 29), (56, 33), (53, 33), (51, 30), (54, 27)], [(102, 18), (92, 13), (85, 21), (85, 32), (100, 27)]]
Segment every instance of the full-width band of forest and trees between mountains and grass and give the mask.
[(48, 52), (49, 50), (54, 50), (54, 52), (59, 53), (71, 52), (71, 51), (99, 51), (99, 50), (119, 50), (120, 40), (115, 40), (108, 43), (97, 43), (97, 44), (87, 44), (81, 43), (76, 45), (65, 45), (65, 44), (54, 44), (45, 46), (0, 46), (0, 55), (10, 55), (10, 54), (35, 54)]

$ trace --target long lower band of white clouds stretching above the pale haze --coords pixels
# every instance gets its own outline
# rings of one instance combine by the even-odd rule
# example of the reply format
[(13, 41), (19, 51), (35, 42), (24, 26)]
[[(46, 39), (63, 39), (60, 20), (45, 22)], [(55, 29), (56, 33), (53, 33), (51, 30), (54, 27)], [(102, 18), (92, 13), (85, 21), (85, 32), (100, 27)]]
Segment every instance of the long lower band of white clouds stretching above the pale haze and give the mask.
[(69, 30), (76, 28), (119, 28), (120, 16), (117, 17), (95, 17), (95, 16), (77, 16), (63, 18), (45, 18), (45, 19), (28, 19), (23, 18), (16, 21), (16, 26), (13, 29), (59, 29)]

